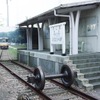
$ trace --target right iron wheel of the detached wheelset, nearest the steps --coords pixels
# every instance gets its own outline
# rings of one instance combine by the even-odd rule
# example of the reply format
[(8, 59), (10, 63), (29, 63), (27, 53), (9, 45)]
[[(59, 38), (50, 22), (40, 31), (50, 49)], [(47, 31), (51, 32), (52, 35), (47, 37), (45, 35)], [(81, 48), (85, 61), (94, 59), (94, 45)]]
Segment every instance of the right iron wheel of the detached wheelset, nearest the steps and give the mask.
[(70, 87), (74, 82), (74, 72), (68, 65), (63, 65), (61, 68), (61, 73), (66, 75), (65, 77), (61, 78), (63, 84)]

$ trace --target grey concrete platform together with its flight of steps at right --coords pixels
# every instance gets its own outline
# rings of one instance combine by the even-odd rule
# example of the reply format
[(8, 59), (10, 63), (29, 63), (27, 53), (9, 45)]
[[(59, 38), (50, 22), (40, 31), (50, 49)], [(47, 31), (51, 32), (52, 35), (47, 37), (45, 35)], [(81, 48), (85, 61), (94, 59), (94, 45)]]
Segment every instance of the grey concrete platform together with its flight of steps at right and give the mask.
[[(48, 74), (60, 73), (64, 64), (77, 71), (76, 82), (87, 90), (100, 88), (100, 53), (62, 56), (61, 52), (19, 50), (18, 61), (31, 67), (41, 66)], [(99, 78), (98, 78), (99, 77)]]

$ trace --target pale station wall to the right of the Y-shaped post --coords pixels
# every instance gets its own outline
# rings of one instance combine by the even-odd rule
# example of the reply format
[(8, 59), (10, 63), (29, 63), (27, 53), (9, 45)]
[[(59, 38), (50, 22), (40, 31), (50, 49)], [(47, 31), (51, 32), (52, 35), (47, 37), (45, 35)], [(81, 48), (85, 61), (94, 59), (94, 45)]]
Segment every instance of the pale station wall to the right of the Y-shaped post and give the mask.
[[(85, 52), (100, 51), (100, 7), (82, 11), (79, 28), (79, 41), (84, 41)], [(82, 22), (83, 20), (83, 22)], [(80, 35), (81, 34), (81, 35)]]

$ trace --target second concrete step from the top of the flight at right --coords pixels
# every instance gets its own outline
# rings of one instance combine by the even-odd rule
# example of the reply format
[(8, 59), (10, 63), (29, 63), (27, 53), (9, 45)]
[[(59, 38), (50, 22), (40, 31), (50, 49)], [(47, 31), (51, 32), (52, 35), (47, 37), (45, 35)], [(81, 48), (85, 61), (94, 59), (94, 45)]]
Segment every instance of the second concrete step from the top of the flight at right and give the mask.
[(88, 63), (88, 62), (100, 62), (100, 58), (73, 60), (73, 64), (81, 64), (81, 63)]

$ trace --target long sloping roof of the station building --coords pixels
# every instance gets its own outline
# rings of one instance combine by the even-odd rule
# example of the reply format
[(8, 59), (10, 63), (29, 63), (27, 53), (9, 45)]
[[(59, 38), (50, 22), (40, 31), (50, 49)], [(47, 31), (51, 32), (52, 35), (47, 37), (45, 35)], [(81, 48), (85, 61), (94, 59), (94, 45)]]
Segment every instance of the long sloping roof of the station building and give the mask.
[(70, 11), (77, 11), (77, 10), (87, 10), (91, 8), (95, 8), (100, 4), (100, 0), (91, 0), (91, 1), (84, 1), (84, 2), (77, 2), (77, 3), (68, 3), (68, 4), (61, 4), (51, 10), (48, 10), (42, 14), (34, 16), (24, 22), (18, 24), (19, 26), (27, 26), (30, 24), (35, 24), (38, 22), (43, 22), (49, 18), (55, 17), (54, 10), (56, 10), (57, 14), (68, 14)]

